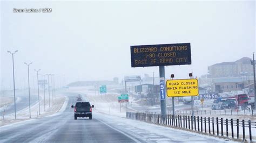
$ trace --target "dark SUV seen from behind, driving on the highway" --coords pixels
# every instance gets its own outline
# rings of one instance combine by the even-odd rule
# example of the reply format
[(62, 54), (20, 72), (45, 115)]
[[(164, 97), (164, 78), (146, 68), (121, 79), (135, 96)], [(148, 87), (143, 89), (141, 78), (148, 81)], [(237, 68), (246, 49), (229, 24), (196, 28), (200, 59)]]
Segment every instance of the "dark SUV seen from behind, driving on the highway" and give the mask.
[(92, 119), (92, 108), (94, 108), (94, 105), (91, 105), (90, 102), (77, 102), (76, 105), (72, 105), (71, 108), (75, 108), (75, 120), (77, 117), (89, 117), (90, 120)]

